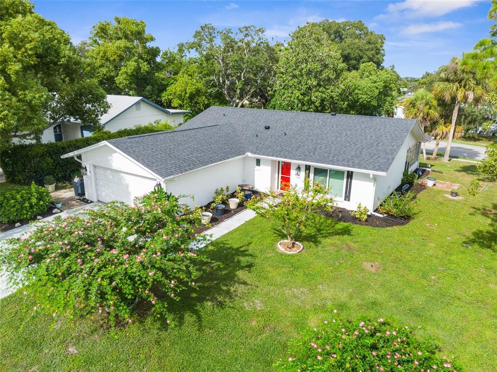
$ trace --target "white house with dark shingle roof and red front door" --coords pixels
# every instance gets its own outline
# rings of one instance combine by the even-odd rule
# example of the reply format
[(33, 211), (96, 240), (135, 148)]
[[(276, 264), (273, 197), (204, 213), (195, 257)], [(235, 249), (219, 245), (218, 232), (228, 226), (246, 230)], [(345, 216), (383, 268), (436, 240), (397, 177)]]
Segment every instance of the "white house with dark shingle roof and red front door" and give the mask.
[(86, 197), (132, 203), (160, 182), (205, 205), (214, 190), (329, 187), (337, 205), (375, 210), (418, 167), (425, 140), (415, 120), (211, 107), (181, 127), (116, 138), (63, 155), (82, 163)]

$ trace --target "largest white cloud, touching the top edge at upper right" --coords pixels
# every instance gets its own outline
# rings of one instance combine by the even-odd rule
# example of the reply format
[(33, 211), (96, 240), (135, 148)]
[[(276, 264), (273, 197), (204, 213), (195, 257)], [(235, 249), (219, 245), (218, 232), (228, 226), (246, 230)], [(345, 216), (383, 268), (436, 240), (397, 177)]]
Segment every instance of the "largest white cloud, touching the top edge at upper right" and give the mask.
[(391, 15), (406, 17), (438, 17), (454, 10), (465, 8), (482, 0), (405, 0), (391, 3), (387, 7), (388, 14), (381, 14), (379, 18)]

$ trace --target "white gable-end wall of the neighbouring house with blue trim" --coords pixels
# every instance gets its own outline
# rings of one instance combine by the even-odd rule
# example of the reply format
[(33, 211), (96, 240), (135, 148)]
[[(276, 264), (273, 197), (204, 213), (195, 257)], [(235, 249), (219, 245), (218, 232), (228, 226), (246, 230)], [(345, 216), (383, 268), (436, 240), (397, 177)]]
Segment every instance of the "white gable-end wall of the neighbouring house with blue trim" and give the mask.
[(156, 120), (178, 125), (183, 123), (183, 114), (166, 114), (146, 102), (137, 102), (105, 124), (105, 129), (115, 132), (119, 129), (133, 128), (137, 125), (147, 125)]

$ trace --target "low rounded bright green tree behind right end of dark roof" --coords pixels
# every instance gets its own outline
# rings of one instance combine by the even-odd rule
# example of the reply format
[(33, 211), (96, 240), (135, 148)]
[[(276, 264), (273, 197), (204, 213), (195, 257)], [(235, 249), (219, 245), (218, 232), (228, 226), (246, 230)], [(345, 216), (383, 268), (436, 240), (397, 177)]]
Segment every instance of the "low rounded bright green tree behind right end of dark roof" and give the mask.
[(400, 95), (400, 77), (393, 69), (367, 62), (346, 71), (339, 80), (337, 112), (392, 116)]

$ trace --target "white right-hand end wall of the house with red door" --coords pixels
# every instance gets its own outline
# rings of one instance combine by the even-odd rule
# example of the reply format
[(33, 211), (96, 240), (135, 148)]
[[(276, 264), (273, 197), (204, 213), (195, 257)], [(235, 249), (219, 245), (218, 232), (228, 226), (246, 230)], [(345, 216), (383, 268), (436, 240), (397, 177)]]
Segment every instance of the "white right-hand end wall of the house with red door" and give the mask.
[[(404, 173), (404, 167), (406, 165), (406, 156), (408, 149), (418, 142), (413, 132), (409, 133), (406, 138), (404, 145), (395, 157), (390, 169), (386, 176), (374, 176), (376, 178), (376, 189), (373, 210), (381, 204), (381, 202), (390, 195), (397, 186), (401, 184), (402, 174)], [(416, 161), (410, 168), (410, 171), (414, 171), (419, 166), (419, 161)]]

